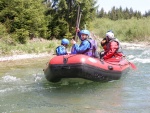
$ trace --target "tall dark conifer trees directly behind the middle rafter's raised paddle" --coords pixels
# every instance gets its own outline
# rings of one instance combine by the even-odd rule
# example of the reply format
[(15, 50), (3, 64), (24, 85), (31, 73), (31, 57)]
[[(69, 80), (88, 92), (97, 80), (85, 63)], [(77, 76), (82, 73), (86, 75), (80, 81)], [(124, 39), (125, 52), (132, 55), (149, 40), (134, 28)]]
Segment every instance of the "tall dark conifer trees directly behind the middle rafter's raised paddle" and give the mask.
[[(49, 11), (47, 12), (47, 16), (52, 15), (52, 21), (49, 22), (48, 28), (52, 31), (52, 37), (55, 38), (62, 38), (63, 36), (68, 36), (68, 34), (74, 35), (79, 5), (82, 10), (80, 23), (82, 28), (84, 24), (88, 23), (95, 17), (95, 0), (53, 0), (52, 4), (52, 7), (49, 8)], [(59, 35), (56, 35), (56, 30)], [(68, 37), (70, 36), (71, 35)]]

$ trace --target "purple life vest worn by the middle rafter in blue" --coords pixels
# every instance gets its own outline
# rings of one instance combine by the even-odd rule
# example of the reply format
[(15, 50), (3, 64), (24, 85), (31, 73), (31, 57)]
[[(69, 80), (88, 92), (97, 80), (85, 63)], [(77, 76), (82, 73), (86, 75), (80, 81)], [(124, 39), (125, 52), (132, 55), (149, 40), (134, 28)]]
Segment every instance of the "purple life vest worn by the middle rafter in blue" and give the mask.
[(83, 52), (83, 54), (86, 54), (90, 57), (96, 57), (96, 49), (97, 49), (96, 41), (91, 38), (88, 38), (86, 40), (90, 43), (90, 48), (87, 49), (85, 52)]

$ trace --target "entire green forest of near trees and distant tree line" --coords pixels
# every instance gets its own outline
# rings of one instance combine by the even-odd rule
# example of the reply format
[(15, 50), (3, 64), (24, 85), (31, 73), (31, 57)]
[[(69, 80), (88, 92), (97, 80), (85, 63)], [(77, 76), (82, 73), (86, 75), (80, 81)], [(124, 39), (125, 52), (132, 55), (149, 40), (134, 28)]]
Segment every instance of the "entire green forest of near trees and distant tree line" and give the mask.
[[(79, 6), (81, 28), (85, 28), (85, 24), (94, 18), (116, 21), (150, 16), (150, 11), (142, 15), (132, 8), (113, 7), (108, 13), (103, 8), (98, 11), (96, 0), (0, 0), (0, 39), (25, 44), (34, 37), (72, 37)], [(89, 24), (86, 25), (90, 28)]]

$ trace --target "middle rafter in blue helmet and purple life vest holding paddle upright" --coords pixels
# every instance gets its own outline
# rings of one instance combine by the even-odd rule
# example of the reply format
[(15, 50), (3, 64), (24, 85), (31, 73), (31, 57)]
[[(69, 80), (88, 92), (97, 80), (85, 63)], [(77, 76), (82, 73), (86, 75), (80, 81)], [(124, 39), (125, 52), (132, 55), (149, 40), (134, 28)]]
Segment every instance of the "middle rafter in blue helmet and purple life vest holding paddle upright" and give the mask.
[(76, 41), (72, 39), (73, 46), (71, 49), (71, 54), (85, 54), (90, 57), (97, 57), (97, 55), (95, 54), (97, 44), (95, 40), (90, 38), (90, 32), (88, 30), (80, 31), (79, 28), (77, 28), (76, 32), (78, 34), (79, 39), (81, 40), (81, 44), (76, 44)]

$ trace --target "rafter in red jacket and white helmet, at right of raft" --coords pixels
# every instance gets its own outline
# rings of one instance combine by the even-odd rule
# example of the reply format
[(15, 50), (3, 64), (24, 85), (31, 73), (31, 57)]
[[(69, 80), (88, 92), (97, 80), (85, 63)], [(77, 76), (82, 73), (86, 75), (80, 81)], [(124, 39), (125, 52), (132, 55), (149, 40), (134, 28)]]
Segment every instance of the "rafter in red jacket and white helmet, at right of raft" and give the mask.
[(112, 30), (107, 31), (106, 37), (101, 41), (103, 51), (100, 52), (100, 59), (109, 61), (120, 61), (124, 56), (122, 47)]

